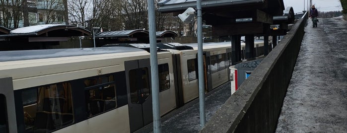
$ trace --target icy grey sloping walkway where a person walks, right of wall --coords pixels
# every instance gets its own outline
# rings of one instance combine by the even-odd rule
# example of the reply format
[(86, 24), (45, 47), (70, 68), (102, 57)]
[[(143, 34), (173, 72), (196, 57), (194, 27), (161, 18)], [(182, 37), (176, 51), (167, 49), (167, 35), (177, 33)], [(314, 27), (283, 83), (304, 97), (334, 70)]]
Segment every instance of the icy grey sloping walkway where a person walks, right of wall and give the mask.
[(347, 133), (347, 21), (311, 19), (284, 98), (277, 133)]

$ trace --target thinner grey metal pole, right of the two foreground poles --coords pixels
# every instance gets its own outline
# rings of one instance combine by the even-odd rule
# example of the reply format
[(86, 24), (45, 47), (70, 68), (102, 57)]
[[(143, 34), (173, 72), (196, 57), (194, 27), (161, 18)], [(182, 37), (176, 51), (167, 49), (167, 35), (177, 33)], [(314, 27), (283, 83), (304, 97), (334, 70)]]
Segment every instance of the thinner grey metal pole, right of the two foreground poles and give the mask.
[(201, 13), (201, 0), (197, 0), (198, 11), (198, 73), (199, 73), (199, 105), (200, 105), (200, 129), (205, 127), (205, 87), (203, 67), (203, 16)]

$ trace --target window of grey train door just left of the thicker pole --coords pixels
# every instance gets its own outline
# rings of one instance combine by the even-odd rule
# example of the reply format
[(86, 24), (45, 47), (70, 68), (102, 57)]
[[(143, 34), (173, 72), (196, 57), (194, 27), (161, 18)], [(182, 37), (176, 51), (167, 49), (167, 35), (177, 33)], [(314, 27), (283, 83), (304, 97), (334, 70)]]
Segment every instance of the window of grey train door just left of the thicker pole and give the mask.
[(129, 71), (130, 99), (132, 103), (142, 103), (150, 95), (148, 68)]

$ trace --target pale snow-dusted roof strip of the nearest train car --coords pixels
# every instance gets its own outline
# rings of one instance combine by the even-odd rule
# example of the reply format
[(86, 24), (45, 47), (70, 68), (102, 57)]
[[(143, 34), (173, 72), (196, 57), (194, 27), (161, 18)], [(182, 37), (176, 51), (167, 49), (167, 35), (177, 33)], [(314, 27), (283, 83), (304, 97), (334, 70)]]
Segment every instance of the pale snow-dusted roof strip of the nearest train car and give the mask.
[(144, 51), (131, 47), (1, 51), (0, 62)]

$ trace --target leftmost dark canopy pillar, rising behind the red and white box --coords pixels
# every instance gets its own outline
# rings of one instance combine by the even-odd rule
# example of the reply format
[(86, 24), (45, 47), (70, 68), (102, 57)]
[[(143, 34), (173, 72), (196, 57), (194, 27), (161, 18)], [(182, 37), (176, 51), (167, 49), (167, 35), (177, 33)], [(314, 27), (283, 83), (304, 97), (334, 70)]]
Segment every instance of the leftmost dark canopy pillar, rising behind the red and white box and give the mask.
[(235, 65), (241, 61), (241, 36), (231, 36), (231, 64)]

